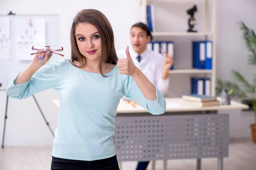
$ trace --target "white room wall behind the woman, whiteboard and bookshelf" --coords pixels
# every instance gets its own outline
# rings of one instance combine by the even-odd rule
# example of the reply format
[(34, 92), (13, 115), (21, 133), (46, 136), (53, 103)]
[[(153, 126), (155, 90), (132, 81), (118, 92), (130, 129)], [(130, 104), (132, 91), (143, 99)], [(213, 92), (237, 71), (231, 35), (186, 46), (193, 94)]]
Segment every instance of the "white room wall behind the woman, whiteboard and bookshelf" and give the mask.
[[(183, 0), (184, 1), (184, 0)], [(159, 19), (158, 28), (162, 31), (181, 31), (187, 29), (186, 9), (194, 3), (179, 2), (177, 0), (162, 1), (157, 3), (156, 15)], [(210, 0), (209, 0), (210, 1)], [(194, 1), (193, 1), (194, 2)], [(196, 1), (198, 5), (197, 18), (198, 26), (201, 31), (204, 27), (204, 4)], [(130, 26), (140, 20), (140, 8), (138, 0), (45, 0), (42, 3), (30, 0), (6, 0), (1, 2), (0, 14), (7, 14), (12, 10), (16, 14), (58, 14), (59, 15), (59, 42), (65, 49), (64, 55), (70, 56), (70, 24), (76, 13), (84, 8), (96, 8), (102, 11), (110, 20), (116, 40), (116, 49), (127, 46), (129, 42)], [(46, 10), (47, 9), (47, 10)], [(256, 30), (254, 22), (256, 16), (256, 2), (253, 0), (218, 0), (217, 2), (217, 78), (230, 79), (231, 69), (241, 71), (246, 78), (252, 79), (255, 68), (247, 66), (247, 49), (241, 39), (241, 31), (236, 22), (243, 20), (250, 28)], [(47, 12), (46, 12), (47, 11)], [(250, 12), (249, 12), (250, 11)], [(191, 40), (198, 40), (203, 37), (162, 37), (161, 40), (174, 40), (177, 52), (175, 59), (176, 67), (191, 66)], [(184, 50), (185, 49), (185, 50)], [(183, 62), (185, 61), (185, 62)], [(3, 61), (0, 61), (3, 62)], [(232, 65), (227, 65), (231, 63)], [(8, 74), (8, 70), (5, 70)], [(0, 72), (0, 77), (3, 72)], [(12, 77), (13, 75), (9, 75)], [(188, 75), (171, 75), (172, 84), (170, 85), (167, 96), (180, 96), (189, 93)], [(0, 79), (1, 81), (1, 79)], [(181, 86), (182, 85), (182, 86)], [(178, 87), (180, 91), (174, 91)], [(53, 105), (52, 99), (58, 97), (54, 90), (47, 90), (35, 95), (41, 108), (49, 121), (53, 130), (58, 123), (58, 109)], [(3, 121), (5, 110), (5, 93), (0, 92), (0, 142), (2, 141)], [(249, 124), (253, 122), (252, 114), (246, 116), (240, 111), (230, 111), (230, 135), (231, 137), (244, 136), (250, 137)], [(52, 134), (44, 122), (33, 98), (17, 100), (9, 98), (8, 119), (6, 123), (6, 146), (14, 145), (51, 145)]]

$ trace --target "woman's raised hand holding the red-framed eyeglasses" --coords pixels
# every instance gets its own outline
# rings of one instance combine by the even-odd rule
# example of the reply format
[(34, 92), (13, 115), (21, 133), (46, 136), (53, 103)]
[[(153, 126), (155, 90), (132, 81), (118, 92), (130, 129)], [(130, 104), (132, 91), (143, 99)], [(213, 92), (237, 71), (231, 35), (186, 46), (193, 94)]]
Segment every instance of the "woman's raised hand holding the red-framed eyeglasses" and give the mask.
[(37, 51), (41, 52), (35, 54), (34, 59), (32, 60), (32, 65), (35, 68), (41, 68), (41, 66), (45, 65), (45, 63), (52, 57), (52, 53), (50, 53), (49, 48), (46, 48), (44, 51)]

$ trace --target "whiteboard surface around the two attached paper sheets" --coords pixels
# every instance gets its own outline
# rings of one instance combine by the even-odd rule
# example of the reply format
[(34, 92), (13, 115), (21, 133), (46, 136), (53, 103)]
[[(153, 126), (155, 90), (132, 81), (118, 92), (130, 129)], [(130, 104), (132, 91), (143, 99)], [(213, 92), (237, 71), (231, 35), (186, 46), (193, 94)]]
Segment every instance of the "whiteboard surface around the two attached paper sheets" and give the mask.
[[(26, 68), (31, 60), (27, 59), (33, 56), (21, 56), (26, 60), (17, 59), (17, 40), (15, 30), (19, 28), (17, 20), (20, 19), (43, 19), (45, 21), (45, 44), (46, 45), (59, 45), (59, 16), (56, 15), (0, 15), (0, 18), (10, 19), (10, 57), (0, 59), (0, 82), (7, 84), (9, 80), (15, 76), (19, 71)], [(30, 49), (32, 46), (30, 47)], [(30, 50), (29, 49), (29, 50)], [(31, 49), (32, 53), (32, 49)], [(53, 57), (52, 57), (53, 58)]]

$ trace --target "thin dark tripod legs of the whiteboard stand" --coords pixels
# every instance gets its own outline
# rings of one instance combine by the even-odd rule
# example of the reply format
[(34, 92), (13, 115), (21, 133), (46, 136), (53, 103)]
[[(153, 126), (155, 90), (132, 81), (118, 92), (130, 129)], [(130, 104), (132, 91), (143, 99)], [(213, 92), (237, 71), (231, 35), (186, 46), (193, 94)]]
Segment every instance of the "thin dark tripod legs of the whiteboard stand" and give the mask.
[[(1, 85), (2, 85), (2, 84), (0, 83), (0, 87), (1, 87)], [(0, 91), (6, 91), (6, 89), (0, 89)], [(49, 122), (47, 122), (47, 120), (46, 120), (46, 118), (45, 118), (45, 116), (44, 116), (43, 111), (41, 110), (40, 106), (38, 105), (37, 100), (35, 99), (34, 94), (33, 94), (32, 96), (33, 96), (33, 98), (34, 98), (34, 100), (35, 100), (35, 103), (36, 103), (36, 105), (37, 105), (37, 107), (38, 107), (38, 109), (39, 109), (41, 115), (42, 115), (43, 118), (44, 118), (44, 121), (45, 121), (46, 125), (49, 127), (49, 130), (51, 131), (52, 136), (54, 137), (54, 133), (53, 133), (53, 131), (52, 131), (52, 128), (49, 126)], [(3, 127), (3, 142), (2, 142), (2, 148), (4, 147), (3, 144), (4, 144), (4, 136), (5, 136), (5, 129), (6, 129), (8, 99), (9, 99), (9, 96), (6, 96), (6, 111), (5, 111), (5, 116), (4, 116), (5, 119), (4, 119), (4, 127)]]

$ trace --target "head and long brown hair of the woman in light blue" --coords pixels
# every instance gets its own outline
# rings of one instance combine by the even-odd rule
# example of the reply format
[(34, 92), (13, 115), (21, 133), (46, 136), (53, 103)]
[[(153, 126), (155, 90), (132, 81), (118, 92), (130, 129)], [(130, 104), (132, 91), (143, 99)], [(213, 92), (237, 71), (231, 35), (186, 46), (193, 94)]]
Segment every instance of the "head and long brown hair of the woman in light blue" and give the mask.
[(99, 63), (100, 73), (105, 76), (103, 70), (111, 69), (105, 63), (116, 65), (113, 29), (104, 14), (81, 11), (73, 20), (70, 39), (71, 59), (77, 67)]

